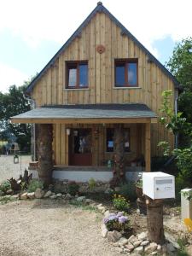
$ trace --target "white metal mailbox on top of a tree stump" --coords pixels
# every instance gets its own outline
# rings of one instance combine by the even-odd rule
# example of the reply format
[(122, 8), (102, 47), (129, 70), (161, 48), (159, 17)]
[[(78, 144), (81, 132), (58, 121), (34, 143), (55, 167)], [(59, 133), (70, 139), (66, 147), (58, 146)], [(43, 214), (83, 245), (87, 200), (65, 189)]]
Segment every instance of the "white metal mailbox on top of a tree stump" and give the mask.
[(175, 177), (165, 172), (143, 172), (143, 194), (152, 199), (175, 198)]

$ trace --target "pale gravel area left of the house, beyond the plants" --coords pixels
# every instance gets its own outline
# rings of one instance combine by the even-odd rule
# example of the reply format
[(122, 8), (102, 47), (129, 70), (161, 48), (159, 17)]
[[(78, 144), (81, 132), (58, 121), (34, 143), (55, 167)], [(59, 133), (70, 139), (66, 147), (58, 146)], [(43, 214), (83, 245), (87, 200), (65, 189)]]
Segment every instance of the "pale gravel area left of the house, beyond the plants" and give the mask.
[[(19, 160), (20, 160), (20, 156), (19, 156)], [(21, 166), (20, 166), (20, 162), (18, 164), (14, 164), (13, 155), (0, 155), (0, 183), (3, 180), (6, 180), (10, 177), (18, 178), (20, 174), (25, 171), (25, 168), (28, 167), (28, 164), (30, 161), (31, 161), (31, 155), (22, 155)], [(21, 169), (21, 173), (20, 173), (20, 169)]]

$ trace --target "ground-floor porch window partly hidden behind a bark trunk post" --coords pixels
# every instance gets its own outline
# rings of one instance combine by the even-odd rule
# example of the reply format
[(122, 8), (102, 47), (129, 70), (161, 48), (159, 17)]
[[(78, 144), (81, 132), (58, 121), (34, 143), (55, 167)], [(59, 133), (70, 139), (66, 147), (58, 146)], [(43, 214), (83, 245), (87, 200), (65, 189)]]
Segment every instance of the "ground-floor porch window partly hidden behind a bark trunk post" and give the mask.
[[(124, 151), (130, 152), (130, 129), (124, 129)], [(114, 151), (114, 129), (107, 128), (106, 129), (106, 151), (113, 152)]]

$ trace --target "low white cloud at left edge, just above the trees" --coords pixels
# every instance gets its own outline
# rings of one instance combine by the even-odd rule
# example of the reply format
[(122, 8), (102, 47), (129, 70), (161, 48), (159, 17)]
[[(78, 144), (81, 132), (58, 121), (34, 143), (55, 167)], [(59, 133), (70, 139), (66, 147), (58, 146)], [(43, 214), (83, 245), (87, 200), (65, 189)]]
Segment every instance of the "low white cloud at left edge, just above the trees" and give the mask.
[(25, 73), (0, 62), (0, 91), (6, 92), (10, 85), (21, 85), (27, 79)]

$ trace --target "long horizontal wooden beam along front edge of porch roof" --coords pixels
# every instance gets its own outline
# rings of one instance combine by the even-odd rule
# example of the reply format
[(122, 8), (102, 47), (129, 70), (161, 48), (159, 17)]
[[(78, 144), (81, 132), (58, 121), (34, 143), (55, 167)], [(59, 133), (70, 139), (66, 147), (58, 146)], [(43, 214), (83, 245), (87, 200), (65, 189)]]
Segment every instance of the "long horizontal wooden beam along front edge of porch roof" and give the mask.
[(19, 119), (12, 118), (11, 123), (19, 124), (145, 124), (154, 123), (151, 118), (113, 118), (113, 119)]

